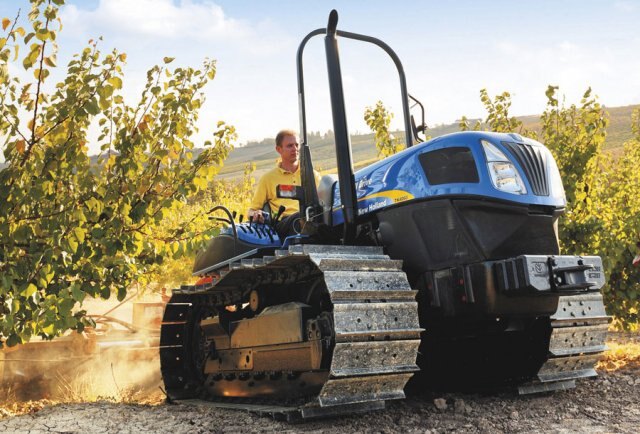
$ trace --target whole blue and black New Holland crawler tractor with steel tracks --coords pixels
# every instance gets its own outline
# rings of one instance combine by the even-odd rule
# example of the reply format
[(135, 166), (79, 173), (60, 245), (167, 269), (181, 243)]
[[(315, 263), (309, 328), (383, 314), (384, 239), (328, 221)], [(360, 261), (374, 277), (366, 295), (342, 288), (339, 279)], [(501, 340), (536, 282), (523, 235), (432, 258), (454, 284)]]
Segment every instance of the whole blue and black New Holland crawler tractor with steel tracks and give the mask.
[[(291, 420), (380, 409), (405, 387), (534, 393), (596, 375), (609, 321), (602, 262), (560, 254), (566, 201), (549, 150), (479, 131), (422, 142), (424, 111), (416, 125), (396, 54), (337, 21), (332, 11), (297, 54), (302, 186), (279, 194), (299, 201), (299, 233), (281, 238), (217, 207), (228, 227), (196, 260), (201, 283), (174, 290), (165, 309), (168, 397)], [(318, 186), (302, 67), (317, 35), (338, 172)], [(355, 173), (338, 38), (379, 46), (400, 77), (407, 148)]]

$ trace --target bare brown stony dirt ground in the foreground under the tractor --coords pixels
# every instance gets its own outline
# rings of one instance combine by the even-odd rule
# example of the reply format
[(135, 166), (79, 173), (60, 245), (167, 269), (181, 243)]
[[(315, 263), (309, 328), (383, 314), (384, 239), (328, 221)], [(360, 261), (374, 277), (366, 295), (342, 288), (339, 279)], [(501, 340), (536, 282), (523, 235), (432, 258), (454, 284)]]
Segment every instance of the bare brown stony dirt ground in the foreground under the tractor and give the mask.
[[(610, 346), (637, 334), (616, 334)], [(576, 389), (534, 396), (516, 393), (424, 393), (387, 409), (305, 424), (288, 424), (207, 404), (140, 405), (114, 402), (46, 405), (11, 416), (0, 407), (0, 432), (208, 433), (208, 432), (468, 432), (637, 433), (640, 431), (640, 360), (618, 354), (599, 376)], [(615, 366), (614, 366), (615, 365)], [(46, 404), (46, 403), (45, 403)], [(4, 413), (3, 413), (4, 412)]]

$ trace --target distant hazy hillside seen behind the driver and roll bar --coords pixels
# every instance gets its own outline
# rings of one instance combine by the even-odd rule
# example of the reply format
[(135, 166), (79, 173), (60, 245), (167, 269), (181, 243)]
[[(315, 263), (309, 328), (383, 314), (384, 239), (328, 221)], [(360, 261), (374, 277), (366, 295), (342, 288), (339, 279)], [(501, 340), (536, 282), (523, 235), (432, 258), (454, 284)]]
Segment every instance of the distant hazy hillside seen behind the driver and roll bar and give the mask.
[[(625, 141), (631, 139), (631, 113), (638, 107), (640, 105), (606, 108), (609, 112), (609, 127), (607, 128), (605, 149), (615, 150), (621, 147)], [(525, 128), (540, 131), (539, 115), (519, 116), (518, 119), (522, 121)], [(430, 127), (427, 134), (433, 138), (456, 131), (460, 131), (460, 128), (458, 124), (454, 123)], [(393, 134), (396, 137), (404, 137), (402, 131), (396, 131)], [(373, 143), (373, 133), (351, 136), (353, 161), (356, 168), (370, 164), (377, 159)], [(243, 176), (244, 168), (248, 163), (256, 165), (256, 171), (253, 176), (260, 177), (275, 164), (277, 154), (273, 149), (274, 146), (273, 139), (264, 139), (260, 142), (250, 142), (245, 146), (237, 147), (227, 157), (218, 177), (222, 179), (240, 178)], [(326, 134), (323, 136), (319, 133), (310, 134), (309, 146), (311, 147), (314, 167), (317, 170), (330, 171), (336, 167), (332, 136)]]

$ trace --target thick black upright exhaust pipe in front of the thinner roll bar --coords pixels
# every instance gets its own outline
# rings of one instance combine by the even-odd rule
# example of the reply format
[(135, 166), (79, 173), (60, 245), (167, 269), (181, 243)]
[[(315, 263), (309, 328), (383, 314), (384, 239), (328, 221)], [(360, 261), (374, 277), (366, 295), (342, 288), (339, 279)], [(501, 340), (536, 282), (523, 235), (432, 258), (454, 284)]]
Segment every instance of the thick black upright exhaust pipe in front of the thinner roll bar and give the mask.
[(344, 244), (352, 244), (356, 235), (357, 196), (353, 163), (351, 156), (351, 140), (347, 128), (347, 115), (344, 105), (342, 73), (336, 28), (338, 12), (334, 9), (329, 14), (327, 36), (324, 38), (327, 53), (327, 71), (329, 75), (329, 93), (331, 95), (331, 112), (333, 114), (334, 139), (336, 142), (336, 158), (338, 163), (338, 180), (340, 181), (340, 198), (344, 214)]

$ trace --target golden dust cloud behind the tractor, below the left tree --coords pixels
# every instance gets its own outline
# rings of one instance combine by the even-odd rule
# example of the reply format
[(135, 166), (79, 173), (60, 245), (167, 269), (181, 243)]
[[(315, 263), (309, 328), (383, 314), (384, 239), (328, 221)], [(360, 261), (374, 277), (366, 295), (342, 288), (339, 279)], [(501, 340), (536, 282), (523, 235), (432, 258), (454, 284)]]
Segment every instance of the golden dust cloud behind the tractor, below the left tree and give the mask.
[(34, 340), (0, 351), (0, 406), (111, 401), (159, 404), (159, 296), (91, 300), (83, 309), (95, 328), (53, 341)]

